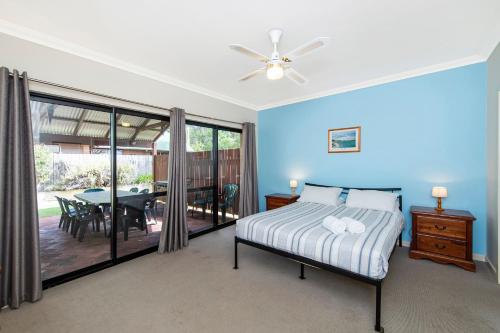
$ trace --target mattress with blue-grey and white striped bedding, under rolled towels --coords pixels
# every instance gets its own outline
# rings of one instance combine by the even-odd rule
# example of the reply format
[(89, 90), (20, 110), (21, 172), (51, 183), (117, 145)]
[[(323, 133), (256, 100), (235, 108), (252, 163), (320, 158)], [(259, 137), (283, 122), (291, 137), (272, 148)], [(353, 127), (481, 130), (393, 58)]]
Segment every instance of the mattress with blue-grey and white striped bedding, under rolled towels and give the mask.
[[(333, 234), (321, 225), (328, 215), (356, 219), (366, 226), (366, 231), (361, 234)], [(370, 278), (382, 279), (389, 269), (389, 257), (403, 225), (400, 211), (296, 202), (238, 220), (236, 235)]]

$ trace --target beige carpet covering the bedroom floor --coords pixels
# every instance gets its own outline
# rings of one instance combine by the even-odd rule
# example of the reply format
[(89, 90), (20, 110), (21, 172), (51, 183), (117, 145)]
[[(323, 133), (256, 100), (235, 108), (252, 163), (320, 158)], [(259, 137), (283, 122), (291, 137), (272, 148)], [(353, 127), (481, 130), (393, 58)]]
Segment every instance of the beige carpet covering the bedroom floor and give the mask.
[[(45, 291), (0, 313), (0, 332), (371, 332), (375, 288), (240, 245), (234, 227)], [(397, 249), (382, 290), (386, 332), (499, 332), (500, 287)]]

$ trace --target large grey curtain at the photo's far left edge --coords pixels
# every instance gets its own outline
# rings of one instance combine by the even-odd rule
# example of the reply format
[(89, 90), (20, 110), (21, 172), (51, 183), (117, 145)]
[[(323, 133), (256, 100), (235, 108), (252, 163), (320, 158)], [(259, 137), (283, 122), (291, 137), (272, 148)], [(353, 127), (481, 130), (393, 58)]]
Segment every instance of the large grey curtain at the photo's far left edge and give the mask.
[(0, 68), (0, 307), (42, 297), (28, 77)]

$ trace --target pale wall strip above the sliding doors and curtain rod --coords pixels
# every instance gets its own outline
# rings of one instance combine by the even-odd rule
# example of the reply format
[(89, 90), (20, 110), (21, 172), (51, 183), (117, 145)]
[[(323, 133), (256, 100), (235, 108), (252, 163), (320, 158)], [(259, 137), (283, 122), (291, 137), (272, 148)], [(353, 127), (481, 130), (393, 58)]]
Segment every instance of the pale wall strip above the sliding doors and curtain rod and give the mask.
[[(28, 76), (53, 83), (98, 92), (161, 107), (179, 107), (188, 113), (234, 122), (256, 122), (254, 110), (221, 101), (183, 88), (132, 74), (32, 42), (0, 33), (0, 66), (27, 71)], [(117, 103), (60, 88), (30, 84), (30, 89), (133, 107), (154, 113), (150, 108)], [(206, 119), (200, 119), (207, 122)], [(217, 121), (212, 121), (217, 123)], [(223, 123), (224, 124), (224, 123)], [(238, 127), (236, 124), (224, 124)]]

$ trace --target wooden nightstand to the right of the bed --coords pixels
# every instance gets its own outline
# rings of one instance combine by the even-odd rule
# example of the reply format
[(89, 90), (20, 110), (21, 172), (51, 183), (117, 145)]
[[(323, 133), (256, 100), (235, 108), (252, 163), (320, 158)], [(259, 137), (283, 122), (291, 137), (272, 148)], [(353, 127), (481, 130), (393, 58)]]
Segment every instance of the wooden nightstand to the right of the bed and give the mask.
[(412, 241), (410, 258), (431, 259), (476, 271), (472, 260), (472, 223), (476, 219), (465, 210), (411, 207)]

